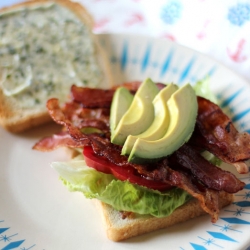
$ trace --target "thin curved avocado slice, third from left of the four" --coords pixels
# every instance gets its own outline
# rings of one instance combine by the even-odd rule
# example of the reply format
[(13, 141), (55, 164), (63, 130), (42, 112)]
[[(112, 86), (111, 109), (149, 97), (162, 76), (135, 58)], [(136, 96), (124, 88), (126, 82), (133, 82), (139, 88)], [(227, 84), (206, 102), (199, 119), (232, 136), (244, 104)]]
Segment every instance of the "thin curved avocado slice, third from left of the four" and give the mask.
[(167, 107), (167, 101), (178, 89), (178, 86), (171, 83), (163, 88), (154, 98), (154, 121), (150, 127), (139, 135), (129, 135), (122, 148), (122, 155), (129, 155), (137, 138), (153, 141), (162, 138), (169, 126), (170, 115)]

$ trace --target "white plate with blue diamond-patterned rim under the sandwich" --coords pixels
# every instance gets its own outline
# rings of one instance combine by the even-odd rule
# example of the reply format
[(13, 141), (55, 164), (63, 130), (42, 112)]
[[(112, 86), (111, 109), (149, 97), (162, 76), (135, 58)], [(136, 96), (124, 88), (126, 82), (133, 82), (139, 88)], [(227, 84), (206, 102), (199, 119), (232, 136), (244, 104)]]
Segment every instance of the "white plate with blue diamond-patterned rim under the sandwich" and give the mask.
[[(250, 132), (250, 85), (217, 62), (166, 40), (100, 35), (113, 64), (117, 83), (151, 77), (184, 84), (210, 76), (212, 90), (237, 127)], [(250, 175), (212, 224), (203, 216), (169, 229), (122, 243), (106, 238), (91, 201), (70, 193), (49, 164), (63, 160), (62, 150), (32, 151), (42, 136), (55, 131), (43, 126), (19, 135), (0, 129), (0, 249), (246, 249), (250, 245)]]

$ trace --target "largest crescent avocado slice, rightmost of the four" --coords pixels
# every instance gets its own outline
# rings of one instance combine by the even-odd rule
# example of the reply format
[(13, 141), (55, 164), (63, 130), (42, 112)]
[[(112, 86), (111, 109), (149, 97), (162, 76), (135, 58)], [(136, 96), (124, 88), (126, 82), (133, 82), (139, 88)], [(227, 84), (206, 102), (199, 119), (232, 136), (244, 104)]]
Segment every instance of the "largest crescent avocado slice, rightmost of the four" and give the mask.
[(197, 97), (190, 84), (178, 89), (167, 102), (170, 124), (167, 133), (158, 140), (138, 138), (129, 155), (129, 162), (143, 163), (168, 156), (189, 140), (198, 112)]

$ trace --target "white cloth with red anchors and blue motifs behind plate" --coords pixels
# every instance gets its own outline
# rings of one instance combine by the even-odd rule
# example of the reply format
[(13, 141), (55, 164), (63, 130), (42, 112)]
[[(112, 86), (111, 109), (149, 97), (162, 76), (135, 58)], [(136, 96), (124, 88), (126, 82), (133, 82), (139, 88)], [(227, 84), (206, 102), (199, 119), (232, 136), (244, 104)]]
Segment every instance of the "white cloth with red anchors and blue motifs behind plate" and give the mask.
[[(21, 0), (0, 0), (0, 7)], [(78, 0), (96, 33), (166, 38), (221, 62), (250, 82), (250, 0)]]

